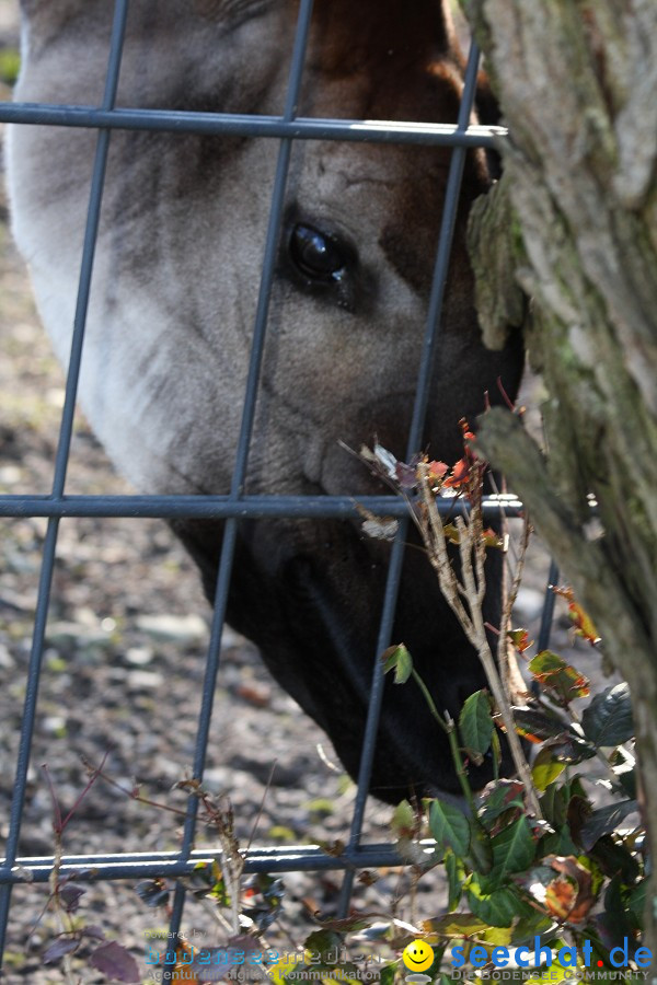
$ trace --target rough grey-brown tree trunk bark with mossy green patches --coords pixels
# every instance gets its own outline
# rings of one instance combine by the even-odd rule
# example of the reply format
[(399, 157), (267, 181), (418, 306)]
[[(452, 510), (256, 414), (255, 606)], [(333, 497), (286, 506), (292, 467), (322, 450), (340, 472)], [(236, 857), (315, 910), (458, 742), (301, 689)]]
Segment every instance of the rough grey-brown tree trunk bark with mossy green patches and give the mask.
[(548, 393), (545, 448), (504, 410), (480, 442), (630, 684), (655, 849), (657, 2), (463, 3), (509, 127), (471, 230), (480, 312), (494, 345), (523, 324)]

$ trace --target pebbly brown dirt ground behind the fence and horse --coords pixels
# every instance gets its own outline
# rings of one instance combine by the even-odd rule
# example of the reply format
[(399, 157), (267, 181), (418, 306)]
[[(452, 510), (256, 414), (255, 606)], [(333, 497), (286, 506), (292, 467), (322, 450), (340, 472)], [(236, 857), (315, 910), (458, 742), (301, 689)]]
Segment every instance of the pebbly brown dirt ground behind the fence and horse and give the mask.
[[(0, 2), (0, 35), (12, 37)], [(8, 96), (8, 92), (3, 93)], [(28, 280), (0, 211), (0, 494), (47, 494), (57, 447), (64, 381), (38, 325)], [(68, 493), (126, 493), (84, 420), (77, 421)], [(25, 696), (33, 617), (45, 521), (0, 521), (0, 838), (8, 831), (18, 734)], [(517, 625), (535, 634), (548, 576), (548, 558), (535, 545), (516, 614)], [(150, 799), (184, 804), (172, 790), (193, 758), (200, 703), (209, 610), (192, 563), (166, 525), (150, 520), (64, 520), (47, 627), (36, 732), (30, 766), (20, 854), (54, 851), (53, 804), (42, 764), (64, 810), (87, 781), (82, 758), (99, 764), (131, 788), (137, 781)], [(569, 652), (563, 612), (555, 622), (554, 648)], [(598, 658), (584, 645), (575, 664), (600, 681)], [(320, 751), (321, 748), (321, 751)], [(206, 784), (227, 792), (242, 844), (301, 844), (345, 841), (354, 785), (344, 776), (326, 738), (268, 676), (257, 652), (227, 630), (209, 744)], [(268, 778), (275, 766), (270, 785)], [(367, 839), (389, 841), (389, 808), (371, 801)], [(67, 854), (175, 849), (178, 822), (157, 808), (131, 801), (99, 781), (76, 809), (64, 847)], [(212, 842), (199, 832), (198, 844)], [(339, 877), (285, 877), (281, 929), (275, 939), (300, 943), (312, 929), (304, 900), (318, 908), (335, 905)], [(358, 907), (410, 919), (435, 915), (440, 880), (420, 882), (415, 907), (400, 901), (405, 883), (396, 872), (380, 873), (374, 887), (360, 887)], [(57, 932), (41, 916), (46, 887), (19, 887), (12, 900), (2, 981), (35, 985), (65, 981), (45, 966), (44, 948)], [(163, 912), (149, 909), (127, 883), (93, 884), (80, 906), (81, 918), (100, 924), (143, 961), (145, 931), (163, 926)], [(201, 907), (189, 904), (186, 929), (221, 930)], [(146, 966), (143, 967), (145, 981)], [(104, 982), (77, 967), (76, 981)]]

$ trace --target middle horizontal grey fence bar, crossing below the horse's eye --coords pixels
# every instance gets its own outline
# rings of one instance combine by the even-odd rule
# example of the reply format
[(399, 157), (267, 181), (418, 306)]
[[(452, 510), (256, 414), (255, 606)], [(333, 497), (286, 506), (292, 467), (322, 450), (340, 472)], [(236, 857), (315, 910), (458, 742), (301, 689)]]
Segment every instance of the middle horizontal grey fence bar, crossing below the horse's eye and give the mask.
[[(466, 500), (438, 498), (441, 517), (464, 514)], [(504, 513), (509, 519), (523, 515), (517, 496), (487, 496), (482, 503), (486, 519)], [(0, 517), (106, 517), (124, 519), (194, 518), (242, 520), (263, 517), (324, 517), (366, 519), (364, 510), (374, 517), (406, 517), (408, 505), (399, 496), (2, 496)]]

